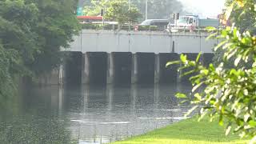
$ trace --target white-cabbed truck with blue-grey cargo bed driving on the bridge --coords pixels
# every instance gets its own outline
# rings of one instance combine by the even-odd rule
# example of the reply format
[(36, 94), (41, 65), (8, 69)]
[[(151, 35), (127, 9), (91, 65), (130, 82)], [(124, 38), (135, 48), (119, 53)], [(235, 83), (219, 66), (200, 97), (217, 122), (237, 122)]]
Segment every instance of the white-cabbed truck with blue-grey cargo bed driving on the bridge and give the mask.
[(214, 18), (200, 19), (198, 15), (185, 15), (175, 20), (174, 23), (169, 23), (167, 30), (170, 32), (194, 31), (195, 29), (204, 29), (209, 26), (220, 26), (219, 20)]

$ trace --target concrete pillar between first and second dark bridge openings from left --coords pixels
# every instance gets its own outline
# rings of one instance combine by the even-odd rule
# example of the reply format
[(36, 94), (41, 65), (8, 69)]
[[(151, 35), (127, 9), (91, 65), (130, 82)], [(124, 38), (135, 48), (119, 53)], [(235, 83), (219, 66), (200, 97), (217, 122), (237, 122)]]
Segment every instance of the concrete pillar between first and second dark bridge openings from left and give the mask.
[(82, 84), (90, 83), (90, 61), (88, 54), (82, 54)]

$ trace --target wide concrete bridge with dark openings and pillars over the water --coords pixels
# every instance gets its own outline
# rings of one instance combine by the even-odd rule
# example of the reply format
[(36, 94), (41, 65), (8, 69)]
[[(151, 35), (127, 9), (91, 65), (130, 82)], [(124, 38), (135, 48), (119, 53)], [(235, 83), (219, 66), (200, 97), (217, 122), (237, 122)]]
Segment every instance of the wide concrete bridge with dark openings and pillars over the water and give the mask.
[(178, 78), (178, 66), (166, 62), (202, 52), (208, 65), (218, 42), (206, 41), (206, 33), (126, 32), (82, 30), (74, 38), (69, 58), (59, 70), (42, 78), (46, 84), (130, 84), (187, 82)]

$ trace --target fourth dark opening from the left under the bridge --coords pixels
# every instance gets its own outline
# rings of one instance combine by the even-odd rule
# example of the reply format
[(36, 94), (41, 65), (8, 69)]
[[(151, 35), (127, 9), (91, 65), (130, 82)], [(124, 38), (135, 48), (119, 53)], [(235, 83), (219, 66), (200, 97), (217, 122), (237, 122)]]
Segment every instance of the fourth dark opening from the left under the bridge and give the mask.
[(138, 83), (154, 84), (154, 53), (137, 53)]

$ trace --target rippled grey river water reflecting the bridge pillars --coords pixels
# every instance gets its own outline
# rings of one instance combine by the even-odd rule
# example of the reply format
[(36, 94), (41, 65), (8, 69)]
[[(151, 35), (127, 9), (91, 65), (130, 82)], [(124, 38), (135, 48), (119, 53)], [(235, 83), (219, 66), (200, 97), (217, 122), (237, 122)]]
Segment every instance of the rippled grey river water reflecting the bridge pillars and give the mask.
[(74, 86), (23, 90), (0, 110), (3, 143), (107, 143), (180, 121), (190, 86)]

